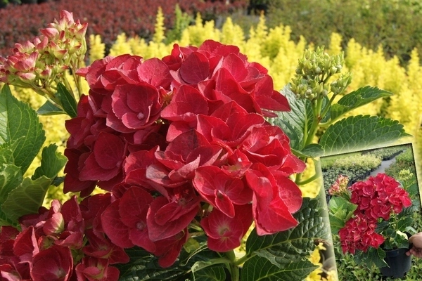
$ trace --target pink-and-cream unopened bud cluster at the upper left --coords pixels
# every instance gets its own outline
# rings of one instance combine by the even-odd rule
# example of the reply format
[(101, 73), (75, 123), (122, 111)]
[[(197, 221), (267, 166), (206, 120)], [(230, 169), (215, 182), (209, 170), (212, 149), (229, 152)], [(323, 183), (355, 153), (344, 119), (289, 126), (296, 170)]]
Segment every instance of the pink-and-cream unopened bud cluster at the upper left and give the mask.
[(87, 23), (75, 22), (72, 13), (61, 11), (60, 20), (40, 32), (42, 35), (33, 41), (15, 44), (12, 55), (0, 57), (0, 82), (52, 97), (64, 72), (76, 70), (84, 60)]

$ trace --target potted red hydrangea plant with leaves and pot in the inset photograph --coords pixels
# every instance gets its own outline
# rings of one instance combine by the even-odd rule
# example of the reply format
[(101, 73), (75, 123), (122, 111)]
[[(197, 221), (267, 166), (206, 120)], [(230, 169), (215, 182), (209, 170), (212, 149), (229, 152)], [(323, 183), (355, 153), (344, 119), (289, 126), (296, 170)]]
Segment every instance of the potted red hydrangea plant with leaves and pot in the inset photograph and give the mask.
[[(380, 173), (353, 183), (347, 193), (336, 192), (330, 207), (337, 226), (332, 230), (340, 237), (343, 253), (369, 267), (378, 266), (385, 276), (403, 277), (411, 261), (405, 254), (409, 249), (407, 233), (415, 232), (409, 192)], [(340, 215), (345, 219), (338, 229)]]

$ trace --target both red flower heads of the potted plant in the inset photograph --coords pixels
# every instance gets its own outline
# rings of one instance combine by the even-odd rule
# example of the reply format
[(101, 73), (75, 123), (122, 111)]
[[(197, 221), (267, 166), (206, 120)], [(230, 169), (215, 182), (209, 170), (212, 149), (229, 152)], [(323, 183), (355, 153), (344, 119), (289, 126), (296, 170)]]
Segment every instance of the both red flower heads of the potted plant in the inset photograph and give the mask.
[(399, 214), (404, 207), (411, 206), (409, 194), (394, 178), (385, 174), (370, 176), (349, 189), (352, 192), (350, 202), (357, 204), (357, 209), (338, 232), (343, 253), (378, 248), (385, 240), (376, 233), (378, 222), (388, 221), (391, 214)]

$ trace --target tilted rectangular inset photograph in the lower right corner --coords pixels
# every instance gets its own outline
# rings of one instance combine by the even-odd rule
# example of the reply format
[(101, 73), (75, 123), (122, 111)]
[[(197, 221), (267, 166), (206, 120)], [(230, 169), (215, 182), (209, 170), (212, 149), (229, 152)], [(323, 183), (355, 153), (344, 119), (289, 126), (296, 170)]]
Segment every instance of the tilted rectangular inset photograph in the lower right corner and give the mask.
[(321, 170), (338, 280), (421, 280), (412, 144), (321, 157)]

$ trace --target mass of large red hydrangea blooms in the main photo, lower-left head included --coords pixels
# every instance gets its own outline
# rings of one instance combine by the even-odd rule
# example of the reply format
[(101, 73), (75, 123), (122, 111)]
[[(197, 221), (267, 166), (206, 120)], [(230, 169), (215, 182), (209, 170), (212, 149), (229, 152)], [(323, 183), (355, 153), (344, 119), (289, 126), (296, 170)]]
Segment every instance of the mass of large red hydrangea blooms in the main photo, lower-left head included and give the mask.
[[(107, 57), (78, 74), (90, 90), (65, 124), (64, 191), (86, 198), (23, 218), (23, 232), (1, 240), (2, 259), (11, 249), (2, 275), (115, 280), (109, 265), (128, 261), (124, 248), (172, 266), (189, 226), (221, 252), (238, 247), (252, 221), (258, 235), (297, 226), (302, 196), (289, 176), (305, 164), (264, 119), (288, 101), (238, 47), (176, 44), (161, 60)], [(97, 185), (106, 195), (91, 195)]]

